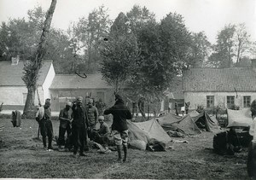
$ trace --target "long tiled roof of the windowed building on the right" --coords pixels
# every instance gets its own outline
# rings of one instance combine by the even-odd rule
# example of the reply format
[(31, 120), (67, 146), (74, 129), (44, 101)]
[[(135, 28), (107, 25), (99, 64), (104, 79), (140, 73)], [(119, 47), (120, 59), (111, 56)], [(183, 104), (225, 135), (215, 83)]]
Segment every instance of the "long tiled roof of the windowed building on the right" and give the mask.
[(191, 68), (183, 72), (183, 90), (256, 91), (256, 72), (251, 67)]

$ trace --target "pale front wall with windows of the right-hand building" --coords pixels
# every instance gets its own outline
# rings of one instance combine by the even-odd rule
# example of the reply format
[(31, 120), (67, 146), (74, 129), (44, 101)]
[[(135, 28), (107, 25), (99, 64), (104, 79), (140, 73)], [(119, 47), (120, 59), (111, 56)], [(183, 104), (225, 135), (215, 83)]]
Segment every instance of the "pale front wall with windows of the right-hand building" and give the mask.
[(238, 107), (243, 106), (243, 96), (251, 96), (251, 102), (256, 99), (256, 92), (184, 92), (184, 101), (190, 102), (189, 109), (195, 109), (202, 105), (207, 107), (207, 96), (214, 96), (214, 106), (227, 107), (227, 96), (235, 96), (235, 104)]

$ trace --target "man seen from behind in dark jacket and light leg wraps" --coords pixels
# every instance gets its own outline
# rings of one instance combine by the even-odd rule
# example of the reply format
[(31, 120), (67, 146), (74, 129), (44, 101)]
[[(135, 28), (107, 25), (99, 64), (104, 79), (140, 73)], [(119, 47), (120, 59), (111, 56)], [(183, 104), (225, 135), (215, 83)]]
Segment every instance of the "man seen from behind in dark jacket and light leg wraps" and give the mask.
[(122, 160), (122, 144), (124, 148), (124, 160), (123, 162), (126, 161), (127, 158), (127, 142), (128, 142), (128, 126), (127, 126), (127, 121), (126, 119), (131, 119), (131, 111), (128, 107), (125, 106), (125, 102), (122, 99), (121, 96), (118, 94), (115, 94), (115, 103), (113, 107), (110, 107), (104, 111), (104, 114), (113, 115), (113, 124), (112, 124), (112, 133), (113, 133), (113, 138), (114, 142), (117, 146), (117, 151), (118, 151), (118, 162), (121, 162)]

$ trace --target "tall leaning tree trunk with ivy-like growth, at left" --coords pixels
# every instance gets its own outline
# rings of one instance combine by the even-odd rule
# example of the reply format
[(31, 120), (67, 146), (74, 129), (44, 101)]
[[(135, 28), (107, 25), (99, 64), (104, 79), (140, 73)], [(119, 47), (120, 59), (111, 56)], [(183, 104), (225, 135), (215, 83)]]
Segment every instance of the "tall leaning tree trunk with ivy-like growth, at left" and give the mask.
[(22, 77), (22, 80), (25, 82), (26, 88), (28, 90), (26, 103), (23, 110), (23, 114), (26, 115), (26, 117), (34, 116), (33, 110), (35, 91), (37, 89), (38, 73), (43, 64), (43, 58), (46, 51), (45, 44), (49, 35), (50, 23), (55, 12), (56, 3), (56, 0), (52, 0), (50, 4), (49, 10), (46, 14), (46, 19), (44, 20), (43, 32), (38, 44), (38, 49), (34, 55), (34, 58), (24, 66), (24, 76)]

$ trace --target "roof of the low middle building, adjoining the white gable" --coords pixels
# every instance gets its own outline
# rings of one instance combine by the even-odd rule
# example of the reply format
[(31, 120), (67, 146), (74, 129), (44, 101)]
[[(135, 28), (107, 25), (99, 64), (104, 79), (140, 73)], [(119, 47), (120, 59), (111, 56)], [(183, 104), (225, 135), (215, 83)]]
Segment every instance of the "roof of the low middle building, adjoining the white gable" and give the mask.
[(101, 74), (86, 74), (87, 78), (81, 78), (76, 74), (55, 74), (51, 90), (73, 89), (113, 89), (102, 79)]

